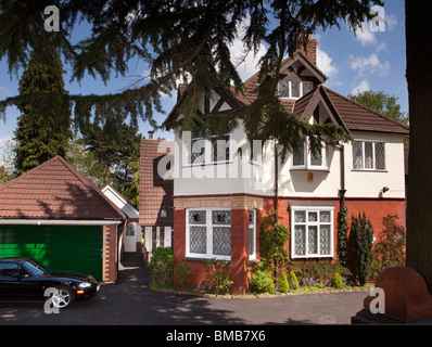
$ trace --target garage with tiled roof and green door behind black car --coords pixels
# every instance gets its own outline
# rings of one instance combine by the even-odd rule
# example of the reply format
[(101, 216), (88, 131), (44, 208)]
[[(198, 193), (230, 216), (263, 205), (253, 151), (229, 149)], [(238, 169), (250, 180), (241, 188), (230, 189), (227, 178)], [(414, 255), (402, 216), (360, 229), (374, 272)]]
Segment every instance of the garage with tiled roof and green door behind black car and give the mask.
[(56, 156), (0, 188), (0, 258), (116, 282), (124, 213)]

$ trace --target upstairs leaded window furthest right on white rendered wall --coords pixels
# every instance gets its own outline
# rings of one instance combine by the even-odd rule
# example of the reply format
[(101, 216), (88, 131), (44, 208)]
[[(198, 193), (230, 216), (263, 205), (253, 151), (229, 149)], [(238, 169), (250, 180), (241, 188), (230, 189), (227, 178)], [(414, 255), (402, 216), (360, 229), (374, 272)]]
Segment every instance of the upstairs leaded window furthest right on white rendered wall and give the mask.
[(385, 143), (355, 141), (353, 144), (353, 168), (355, 170), (385, 170)]

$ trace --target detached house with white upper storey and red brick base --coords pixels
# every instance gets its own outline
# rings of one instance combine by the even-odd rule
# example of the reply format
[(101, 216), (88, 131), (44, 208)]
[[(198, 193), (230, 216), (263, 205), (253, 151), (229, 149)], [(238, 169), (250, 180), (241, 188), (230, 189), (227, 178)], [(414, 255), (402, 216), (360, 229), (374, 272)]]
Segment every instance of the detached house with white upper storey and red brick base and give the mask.
[[(245, 144), (240, 125), (224, 140), (203, 140), (195, 131), (175, 130), (174, 236), (176, 261), (193, 271), (191, 285), (205, 279), (202, 259), (231, 260), (233, 292), (247, 291), (246, 268), (259, 259), (262, 217), (278, 203), (279, 221), (290, 229), (287, 244), (295, 260), (336, 259), (336, 218), (342, 205), (350, 215), (365, 211), (376, 233), (382, 217), (398, 215), (405, 224), (404, 136), (408, 127), (325, 87), (327, 77), (316, 65), (316, 40), (283, 62), (279, 95), (289, 112), (310, 124), (343, 127), (354, 142), (323, 146), (312, 155), (307, 141), (282, 160), (267, 141), (240, 157)], [(242, 94), (212, 92), (203, 97), (202, 114), (223, 114), (256, 98), (258, 74), (244, 82)], [(166, 124), (179, 119), (182, 102)], [(186, 91), (187, 92), (187, 91)], [(277, 174), (278, 180), (275, 181)], [(277, 185), (276, 185), (277, 184)]]

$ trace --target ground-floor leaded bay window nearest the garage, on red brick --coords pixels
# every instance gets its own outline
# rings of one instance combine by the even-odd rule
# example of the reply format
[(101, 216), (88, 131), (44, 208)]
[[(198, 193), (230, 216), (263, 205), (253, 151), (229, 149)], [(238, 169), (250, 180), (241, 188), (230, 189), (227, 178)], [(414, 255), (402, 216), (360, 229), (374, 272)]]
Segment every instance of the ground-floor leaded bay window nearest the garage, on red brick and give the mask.
[(187, 257), (231, 259), (230, 209), (188, 209), (186, 219)]

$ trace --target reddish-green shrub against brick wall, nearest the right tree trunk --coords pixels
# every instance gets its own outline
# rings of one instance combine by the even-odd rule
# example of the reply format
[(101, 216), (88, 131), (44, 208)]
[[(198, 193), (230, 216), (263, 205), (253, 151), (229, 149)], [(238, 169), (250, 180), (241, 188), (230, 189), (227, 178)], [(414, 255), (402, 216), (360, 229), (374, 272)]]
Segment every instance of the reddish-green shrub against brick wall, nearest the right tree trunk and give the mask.
[(406, 230), (397, 224), (397, 219), (391, 215), (382, 219), (384, 228), (373, 247), (371, 272), (374, 279), (386, 268), (405, 266)]

